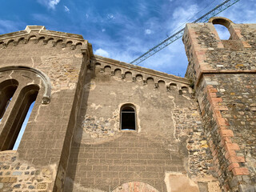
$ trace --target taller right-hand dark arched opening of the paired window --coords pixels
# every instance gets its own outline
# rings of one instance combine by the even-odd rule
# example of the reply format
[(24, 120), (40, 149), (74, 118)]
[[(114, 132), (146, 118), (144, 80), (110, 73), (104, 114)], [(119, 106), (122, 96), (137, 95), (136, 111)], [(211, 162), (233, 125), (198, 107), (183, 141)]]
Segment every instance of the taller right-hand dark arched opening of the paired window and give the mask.
[[(8, 125), (8, 127), (6, 127), (7, 137), (2, 143), (1, 150), (14, 149), (14, 144), (18, 140), (17, 138), (18, 134), (21, 132), (22, 124), (25, 121), (27, 114), (29, 113), (30, 106), (38, 96), (38, 91), (39, 87), (35, 85), (26, 86), (21, 90), (20, 94), (18, 95), (18, 99), (14, 104), (14, 108), (10, 113), (10, 118), (8, 118), (6, 122)], [(22, 135), (20, 138), (21, 137)], [(16, 145), (15, 147), (17, 148), (18, 146)]]

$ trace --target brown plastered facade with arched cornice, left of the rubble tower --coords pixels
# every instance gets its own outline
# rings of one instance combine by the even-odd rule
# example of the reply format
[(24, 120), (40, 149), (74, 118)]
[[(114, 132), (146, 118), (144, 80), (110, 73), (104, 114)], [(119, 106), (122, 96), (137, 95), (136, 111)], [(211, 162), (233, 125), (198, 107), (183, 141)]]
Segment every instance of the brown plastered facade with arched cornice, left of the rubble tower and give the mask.
[[(81, 35), (43, 26), (0, 35), (0, 46), (0, 82), (16, 79), (19, 86), (39, 87), (18, 150), (0, 152), (0, 190), (220, 191), (214, 142), (207, 142), (213, 136), (189, 79), (94, 56)], [(211, 82), (216, 81), (221, 79)], [(11, 133), (19, 93), (0, 122), (0, 138)], [(202, 113), (207, 101), (199, 101)], [(120, 130), (124, 104), (135, 107), (136, 130)], [(246, 150), (253, 154), (253, 148)], [(239, 167), (252, 171), (253, 163)]]

